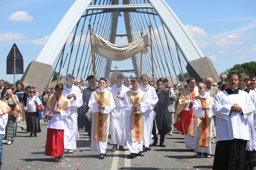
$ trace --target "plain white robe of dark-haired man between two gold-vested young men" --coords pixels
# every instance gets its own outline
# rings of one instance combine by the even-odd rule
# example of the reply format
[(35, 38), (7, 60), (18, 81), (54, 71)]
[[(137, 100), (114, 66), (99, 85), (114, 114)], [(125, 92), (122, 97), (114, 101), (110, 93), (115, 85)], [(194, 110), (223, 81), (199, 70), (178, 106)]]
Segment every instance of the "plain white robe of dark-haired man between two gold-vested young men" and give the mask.
[[(115, 102), (115, 108), (111, 111), (110, 116), (110, 128), (111, 128), (111, 141), (110, 144), (118, 144), (119, 146), (125, 146), (125, 125), (124, 125), (124, 111), (122, 110), (123, 100), (115, 97), (116, 95), (124, 96), (129, 88), (122, 84), (118, 87), (117, 84), (109, 89), (112, 93)], [(119, 93), (119, 94), (117, 94)]]

